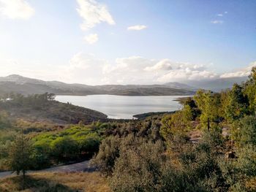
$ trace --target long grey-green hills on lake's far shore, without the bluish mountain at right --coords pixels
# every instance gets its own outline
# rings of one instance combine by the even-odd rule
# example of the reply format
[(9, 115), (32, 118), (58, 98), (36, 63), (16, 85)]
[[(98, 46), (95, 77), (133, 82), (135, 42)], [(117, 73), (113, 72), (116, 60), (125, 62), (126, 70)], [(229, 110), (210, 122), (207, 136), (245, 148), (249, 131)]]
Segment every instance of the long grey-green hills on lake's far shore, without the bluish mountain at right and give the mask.
[(24, 95), (33, 93), (55, 93), (59, 95), (92, 95), (110, 94), (122, 96), (181, 96), (193, 95), (195, 90), (188, 85), (178, 82), (167, 85), (83, 85), (67, 84), (58, 81), (43, 81), (18, 74), (0, 77), (0, 94), (22, 93)]

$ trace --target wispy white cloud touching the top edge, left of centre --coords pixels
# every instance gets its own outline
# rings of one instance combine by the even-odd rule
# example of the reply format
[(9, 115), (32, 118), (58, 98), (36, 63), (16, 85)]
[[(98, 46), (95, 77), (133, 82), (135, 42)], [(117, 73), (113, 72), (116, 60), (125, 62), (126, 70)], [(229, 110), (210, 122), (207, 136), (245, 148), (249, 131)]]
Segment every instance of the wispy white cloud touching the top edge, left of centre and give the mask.
[(115, 25), (108, 7), (104, 4), (99, 4), (94, 0), (77, 0), (78, 14), (83, 18), (83, 23), (80, 25), (83, 31), (94, 28), (99, 23), (106, 22), (110, 25)]

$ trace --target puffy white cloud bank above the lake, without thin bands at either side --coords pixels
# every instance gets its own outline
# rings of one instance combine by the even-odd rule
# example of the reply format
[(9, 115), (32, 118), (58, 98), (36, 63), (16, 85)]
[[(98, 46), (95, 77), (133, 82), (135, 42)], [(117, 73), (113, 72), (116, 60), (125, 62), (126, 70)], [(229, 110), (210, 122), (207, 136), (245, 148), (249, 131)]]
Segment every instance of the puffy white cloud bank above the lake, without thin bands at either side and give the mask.
[[(181, 80), (204, 80), (218, 75), (206, 66), (177, 63), (170, 59), (140, 56), (116, 58), (110, 62), (85, 53), (75, 54), (67, 72), (70, 80), (86, 84), (152, 84)], [(79, 79), (79, 80), (78, 80)]]

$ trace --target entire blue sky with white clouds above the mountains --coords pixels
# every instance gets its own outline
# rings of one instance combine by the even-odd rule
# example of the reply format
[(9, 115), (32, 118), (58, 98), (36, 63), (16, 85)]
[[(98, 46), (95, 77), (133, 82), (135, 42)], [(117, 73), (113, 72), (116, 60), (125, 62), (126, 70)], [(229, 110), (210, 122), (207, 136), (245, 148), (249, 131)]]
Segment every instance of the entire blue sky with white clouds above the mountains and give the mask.
[(0, 0), (0, 76), (88, 85), (244, 77), (255, 0)]

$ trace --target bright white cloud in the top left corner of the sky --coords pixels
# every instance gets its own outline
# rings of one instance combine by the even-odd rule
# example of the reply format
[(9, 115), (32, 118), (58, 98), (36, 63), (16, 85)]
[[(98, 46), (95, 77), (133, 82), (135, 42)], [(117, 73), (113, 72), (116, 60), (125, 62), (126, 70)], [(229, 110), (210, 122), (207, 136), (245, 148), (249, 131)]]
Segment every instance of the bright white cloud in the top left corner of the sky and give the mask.
[(25, 0), (0, 0), (0, 14), (10, 19), (29, 19), (34, 8)]

